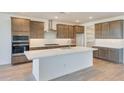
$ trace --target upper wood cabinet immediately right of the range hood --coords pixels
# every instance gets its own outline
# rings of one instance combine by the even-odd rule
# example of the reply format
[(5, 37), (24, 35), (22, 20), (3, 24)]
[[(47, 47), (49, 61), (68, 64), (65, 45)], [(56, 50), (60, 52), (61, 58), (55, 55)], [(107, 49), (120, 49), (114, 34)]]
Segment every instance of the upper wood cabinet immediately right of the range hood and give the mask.
[(75, 38), (73, 26), (57, 24), (57, 38)]

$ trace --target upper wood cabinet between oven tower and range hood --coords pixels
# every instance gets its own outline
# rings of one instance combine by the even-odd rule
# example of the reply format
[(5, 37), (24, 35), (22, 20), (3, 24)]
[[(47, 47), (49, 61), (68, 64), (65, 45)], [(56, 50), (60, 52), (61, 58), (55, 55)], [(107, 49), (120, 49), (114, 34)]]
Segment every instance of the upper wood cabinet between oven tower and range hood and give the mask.
[(44, 38), (44, 23), (30, 21), (30, 38)]

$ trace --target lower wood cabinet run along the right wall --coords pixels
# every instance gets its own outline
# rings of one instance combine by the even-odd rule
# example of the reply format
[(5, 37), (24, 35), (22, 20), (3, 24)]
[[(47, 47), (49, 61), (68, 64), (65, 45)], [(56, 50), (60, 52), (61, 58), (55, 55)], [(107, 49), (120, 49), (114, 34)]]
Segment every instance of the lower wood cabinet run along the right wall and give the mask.
[(93, 57), (108, 60), (110, 62), (123, 64), (123, 49), (94, 47), (98, 50), (93, 52)]

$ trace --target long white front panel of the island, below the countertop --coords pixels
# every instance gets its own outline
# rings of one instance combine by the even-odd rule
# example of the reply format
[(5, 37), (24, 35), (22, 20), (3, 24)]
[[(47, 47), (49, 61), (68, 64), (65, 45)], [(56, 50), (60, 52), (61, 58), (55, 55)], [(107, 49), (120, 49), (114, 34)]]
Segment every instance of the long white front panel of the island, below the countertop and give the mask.
[(92, 66), (93, 51), (40, 58), (38, 63), (39, 80), (51, 80)]

